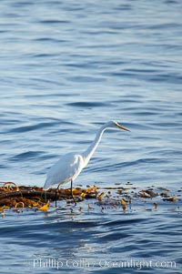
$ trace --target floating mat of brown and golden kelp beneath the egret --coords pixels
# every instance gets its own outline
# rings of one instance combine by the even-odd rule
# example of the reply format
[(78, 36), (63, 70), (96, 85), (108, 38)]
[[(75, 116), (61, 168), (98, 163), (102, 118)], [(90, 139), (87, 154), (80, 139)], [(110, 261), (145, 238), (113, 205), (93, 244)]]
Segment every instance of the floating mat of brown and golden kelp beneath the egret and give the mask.
[[(24, 211), (25, 208), (32, 210), (47, 211), (49, 206), (55, 207), (53, 203), (56, 199), (65, 200), (66, 204), (79, 205), (80, 202), (92, 200), (91, 205), (96, 205), (101, 209), (104, 208), (126, 208), (138, 205), (138, 203), (147, 204), (150, 200), (150, 206), (147, 210), (157, 210), (158, 202), (178, 202), (181, 201), (182, 189), (178, 189), (175, 194), (170, 195), (167, 188), (147, 188), (139, 189), (133, 187), (132, 183), (127, 182), (124, 187), (116, 184), (116, 187), (98, 188), (96, 186), (86, 188), (73, 188), (75, 201), (71, 198), (70, 188), (50, 188), (45, 191), (43, 188), (18, 186), (14, 182), (1, 183), (0, 187), (0, 212), (5, 216), (5, 209), (11, 209), (17, 213)], [(136, 202), (137, 201), (137, 202)], [(75, 206), (75, 205), (74, 205)], [(81, 208), (79, 206), (79, 208)], [(93, 207), (87, 203), (87, 209)], [(179, 207), (178, 207), (179, 208)]]

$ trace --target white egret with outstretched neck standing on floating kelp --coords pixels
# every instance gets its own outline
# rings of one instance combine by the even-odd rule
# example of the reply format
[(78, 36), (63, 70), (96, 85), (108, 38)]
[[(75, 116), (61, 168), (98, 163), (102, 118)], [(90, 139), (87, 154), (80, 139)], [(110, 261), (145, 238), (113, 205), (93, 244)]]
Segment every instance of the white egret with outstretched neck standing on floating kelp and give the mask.
[(91, 143), (91, 145), (82, 153), (67, 153), (66, 155), (60, 157), (56, 164), (51, 167), (47, 173), (47, 178), (45, 180), (44, 189), (52, 187), (53, 185), (65, 185), (68, 182), (71, 182), (71, 196), (73, 198), (73, 181), (80, 174), (82, 169), (86, 167), (89, 159), (94, 154), (96, 147), (98, 146), (101, 137), (108, 127), (120, 128), (126, 131), (130, 131), (126, 127), (119, 125), (116, 121), (109, 121), (100, 129), (96, 134), (96, 138)]

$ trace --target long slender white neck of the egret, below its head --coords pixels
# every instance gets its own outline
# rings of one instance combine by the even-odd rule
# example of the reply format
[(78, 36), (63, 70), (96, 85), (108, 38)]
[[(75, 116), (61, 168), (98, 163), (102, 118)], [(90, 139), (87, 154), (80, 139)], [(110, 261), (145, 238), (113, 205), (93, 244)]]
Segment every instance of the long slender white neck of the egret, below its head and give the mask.
[(98, 144), (100, 143), (101, 137), (105, 131), (106, 127), (105, 125), (103, 127), (101, 127), (98, 132), (96, 133), (96, 138), (94, 139), (94, 141), (91, 143), (91, 145), (86, 149), (86, 151), (83, 153), (83, 157), (85, 160), (85, 165), (87, 164), (87, 162), (89, 161), (89, 159), (93, 156), (96, 147), (98, 146)]

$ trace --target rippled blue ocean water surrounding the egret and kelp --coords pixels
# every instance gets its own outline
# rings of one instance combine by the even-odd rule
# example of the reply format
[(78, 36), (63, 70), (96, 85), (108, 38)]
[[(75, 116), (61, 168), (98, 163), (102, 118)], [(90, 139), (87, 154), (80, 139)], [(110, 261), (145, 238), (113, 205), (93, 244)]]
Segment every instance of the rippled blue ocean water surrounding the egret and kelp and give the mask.
[[(179, 0), (1, 0), (0, 181), (43, 186), (61, 155), (86, 149), (114, 119), (131, 132), (106, 131), (75, 185), (179, 191), (181, 9)], [(7, 210), (0, 235), (2, 273), (120, 273), (124, 261), (125, 273), (142, 262), (145, 273), (182, 269), (180, 198), (125, 214)]]

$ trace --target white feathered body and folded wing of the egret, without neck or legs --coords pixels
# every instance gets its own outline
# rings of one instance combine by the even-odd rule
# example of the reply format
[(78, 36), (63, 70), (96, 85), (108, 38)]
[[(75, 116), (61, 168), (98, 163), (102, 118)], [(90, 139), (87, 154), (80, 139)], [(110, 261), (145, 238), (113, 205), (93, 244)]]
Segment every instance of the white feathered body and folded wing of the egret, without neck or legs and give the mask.
[(55, 184), (66, 184), (71, 179), (75, 179), (82, 168), (82, 157), (80, 155), (66, 154), (49, 169), (44, 188), (50, 188)]

